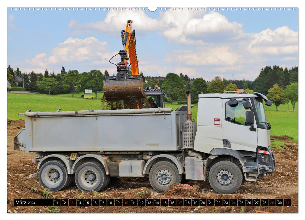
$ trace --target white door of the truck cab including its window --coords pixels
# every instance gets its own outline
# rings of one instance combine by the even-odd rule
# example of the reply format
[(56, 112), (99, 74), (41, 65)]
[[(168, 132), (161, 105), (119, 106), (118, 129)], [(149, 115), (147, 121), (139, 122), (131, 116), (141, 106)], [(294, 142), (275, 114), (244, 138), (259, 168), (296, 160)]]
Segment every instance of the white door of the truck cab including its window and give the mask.
[(222, 111), (222, 139), (223, 147), (232, 150), (256, 151), (257, 148), (257, 126), (246, 123), (246, 112), (243, 102), (247, 99), (236, 99), (237, 106), (230, 106), (229, 99), (223, 99)]

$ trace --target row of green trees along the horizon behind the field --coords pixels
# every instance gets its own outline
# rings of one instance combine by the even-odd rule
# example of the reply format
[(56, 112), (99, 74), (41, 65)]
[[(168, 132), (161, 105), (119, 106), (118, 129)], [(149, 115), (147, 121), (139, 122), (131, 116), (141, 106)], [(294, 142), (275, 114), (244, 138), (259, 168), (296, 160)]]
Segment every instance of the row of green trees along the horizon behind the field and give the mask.
[[(237, 88), (243, 88), (244, 91), (250, 93), (250, 89), (254, 88), (256, 92), (262, 94), (268, 93), (270, 100), (275, 100), (274, 103), (277, 108), (278, 105), (284, 104), (288, 99), (291, 100), (291, 103), (294, 102), (295, 104), (295, 98), (291, 98), (291, 95), (289, 95), (291, 92), (289, 91), (292, 91), (292, 85), (294, 86), (293, 91), (295, 91), (295, 87), (297, 88), (297, 84), (293, 84), (297, 83), (297, 70), (297, 67), (288, 70), (279, 66), (266, 66), (260, 71), (255, 81), (226, 80), (216, 76), (211, 82), (207, 82), (203, 78), (190, 79), (187, 74), (184, 75), (182, 73), (180, 75), (168, 73), (165, 78), (156, 76), (145, 77), (142, 72), (140, 75), (144, 81), (144, 88), (153, 88), (155, 85), (158, 85), (163, 91), (170, 92), (171, 102), (184, 101), (186, 97), (185, 91), (191, 91), (193, 99), (197, 99), (200, 93), (224, 93), (225, 90), (236, 91)], [(128, 72), (131, 74), (130, 69)], [(74, 96), (75, 91), (84, 92), (85, 89), (92, 89), (95, 92), (95, 97), (97, 97), (97, 92), (103, 90), (103, 81), (106, 76), (109, 76), (109, 73), (107, 70), (104, 74), (100, 70), (91, 70), (90, 72), (80, 74), (77, 70), (66, 72), (65, 68), (62, 67), (60, 74), (55, 74), (54, 71), (49, 74), (47, 69), (44, 75), (41, 73), (36, 74), (33, 71), (30, 74), (21, 74), (18, 68), (14, 71), (13, 68), (8, 66), (8, 81), (11, 84), (15, 83), (14, 75), (24, 78), (26, 91), (47, 94), (70, 92)], [(280, 99), (275, 98), (274, 94), (277, 94), (276, 97), (280, 97)]]

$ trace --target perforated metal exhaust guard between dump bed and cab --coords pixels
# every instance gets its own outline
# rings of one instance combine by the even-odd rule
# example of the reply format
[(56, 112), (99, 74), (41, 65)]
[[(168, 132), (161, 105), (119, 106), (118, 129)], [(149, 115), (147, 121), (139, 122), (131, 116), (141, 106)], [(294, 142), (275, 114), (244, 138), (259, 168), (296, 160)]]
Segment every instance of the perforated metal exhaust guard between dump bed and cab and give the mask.
[(196, 122), (182, 122), (182, 148), (194, 148), (196, 135)]

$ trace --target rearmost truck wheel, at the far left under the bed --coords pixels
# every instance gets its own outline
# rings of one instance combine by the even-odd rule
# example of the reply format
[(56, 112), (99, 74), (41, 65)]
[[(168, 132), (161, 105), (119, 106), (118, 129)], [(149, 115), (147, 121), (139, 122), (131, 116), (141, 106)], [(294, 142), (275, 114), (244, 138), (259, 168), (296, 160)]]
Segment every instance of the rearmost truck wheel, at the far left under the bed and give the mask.
[(69, 185), (71, 175), (67, 173), (63, 162), (51, 160), (42, 165), (38, 177), (42, 186), (51, 191), (59, 191)]

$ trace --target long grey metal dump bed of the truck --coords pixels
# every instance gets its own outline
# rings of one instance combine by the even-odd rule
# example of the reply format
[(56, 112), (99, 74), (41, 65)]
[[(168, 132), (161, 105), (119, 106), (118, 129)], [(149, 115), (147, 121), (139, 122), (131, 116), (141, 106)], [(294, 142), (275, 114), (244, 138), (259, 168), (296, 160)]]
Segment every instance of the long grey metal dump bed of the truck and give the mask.
[(186, 106), (25, 112), (14, 149), (30, 151), (175, 151), (182, 145)]

